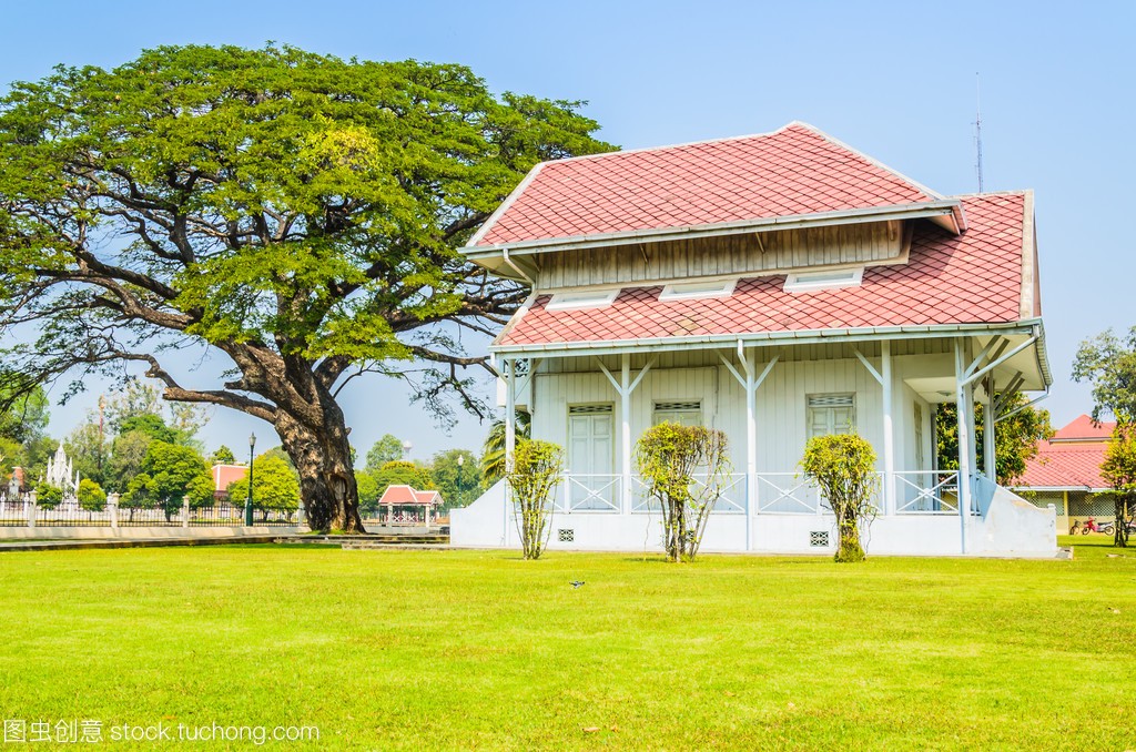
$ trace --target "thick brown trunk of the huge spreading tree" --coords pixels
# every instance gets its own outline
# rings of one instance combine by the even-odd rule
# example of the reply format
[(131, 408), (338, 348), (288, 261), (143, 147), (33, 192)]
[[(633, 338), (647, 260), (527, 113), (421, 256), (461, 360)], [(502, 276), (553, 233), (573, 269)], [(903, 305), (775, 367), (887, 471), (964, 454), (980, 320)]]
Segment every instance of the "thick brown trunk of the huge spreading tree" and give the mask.
[(343, 412), (332, 401), (323, 417), (317, 431), (283, 410), (276, 415), (276, 433), (300, 473), (308, 525), (319, 533), (366, 533)]

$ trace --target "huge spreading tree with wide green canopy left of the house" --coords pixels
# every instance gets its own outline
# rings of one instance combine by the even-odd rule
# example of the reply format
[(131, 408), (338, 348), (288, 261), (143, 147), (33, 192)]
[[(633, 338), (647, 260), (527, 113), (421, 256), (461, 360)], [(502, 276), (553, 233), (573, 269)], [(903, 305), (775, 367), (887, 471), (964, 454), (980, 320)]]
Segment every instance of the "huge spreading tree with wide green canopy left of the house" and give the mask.
[[(577, 109), (495, 97), (461, 66), (290, 47), (159, 48), (14, 84), (0, 334), (39, 336), (0, 353), (0, 378), (142, 364), (167, 400), (270, 423), (312, 528), (361, 529), (339, 391), (378, 371), (479, 409), (461, 368), (485, 360), (461, 333), (484, 341), (526, 293), (456, 249), (535, 162), (611, 149)], [(189, 344), (229, 379), (187, 383), (166, 353)]]

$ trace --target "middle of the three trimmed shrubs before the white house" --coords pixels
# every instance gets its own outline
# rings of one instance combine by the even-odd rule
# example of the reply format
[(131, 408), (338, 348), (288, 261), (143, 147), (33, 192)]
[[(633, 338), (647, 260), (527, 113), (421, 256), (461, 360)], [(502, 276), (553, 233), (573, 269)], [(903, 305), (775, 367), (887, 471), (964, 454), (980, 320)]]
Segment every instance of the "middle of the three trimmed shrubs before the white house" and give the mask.
[[(646, 493), (662, 509), (663, 549), (670, 561), (693, 561), (730, 465), (726, 434), (663, 421), (635, 444)], [(701, 475), (701, 477), (696, 477)]]

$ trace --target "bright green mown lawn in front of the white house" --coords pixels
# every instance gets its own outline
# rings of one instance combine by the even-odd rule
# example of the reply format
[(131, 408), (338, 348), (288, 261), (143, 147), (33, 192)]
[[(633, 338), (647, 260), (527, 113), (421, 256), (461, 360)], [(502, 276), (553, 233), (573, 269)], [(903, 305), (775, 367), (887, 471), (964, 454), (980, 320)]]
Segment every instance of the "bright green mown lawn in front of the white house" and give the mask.
[(0, 553), (0, 719), (94, 719), (116, 749), (123, 724), (318, 727), (279, 749), (1133, 749), (1136, 550), (1105, 544)]

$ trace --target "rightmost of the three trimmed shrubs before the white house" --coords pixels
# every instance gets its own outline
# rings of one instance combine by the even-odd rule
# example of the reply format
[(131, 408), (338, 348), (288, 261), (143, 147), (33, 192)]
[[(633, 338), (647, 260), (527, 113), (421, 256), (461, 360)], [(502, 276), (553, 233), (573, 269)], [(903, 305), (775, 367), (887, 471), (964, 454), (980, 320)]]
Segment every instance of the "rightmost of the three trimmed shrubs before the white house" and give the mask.
[(876, 508), (871, 496), (879, 486), (876, 452), (857, 434), (813, 436), (804, 446), (801, 469), (820, 487), (836, 515), (840, 545), (836, 561), (863, 561), (860, 526), (871, 523)]

